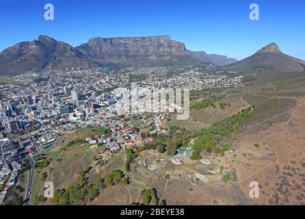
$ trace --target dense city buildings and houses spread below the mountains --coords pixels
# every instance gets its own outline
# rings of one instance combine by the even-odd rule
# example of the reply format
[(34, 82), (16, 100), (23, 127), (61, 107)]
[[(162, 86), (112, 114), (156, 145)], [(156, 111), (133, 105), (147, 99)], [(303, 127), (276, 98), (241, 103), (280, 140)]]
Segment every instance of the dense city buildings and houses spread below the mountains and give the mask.
[[(226, 88), (237, 86), (243, 78), (217, 77), (183, 69), (183, 75), (160, 80), (152, 73), (165, 78), (170, 71), (168, 68), (136, 68), (141, 75), (149, 76), (137, 80), (135, 95), (142, 111), (131, 112), (132, 103), (124, 104), (127, 100), (124, 95), (133, 92), (131, 75), (137, 75), (134, 71), (132, 68), (118, 72), (109, 68), (67, 68), (29, 72), (14, 77), (14, 83), (1, 84), (1, 202), (7, 190), (18, 186), (21, 172), (25, 170), (29, 178), (25, 192), (27, 198), (31, 198), (34, 168), (48, 165), (45, 150), (62, 144), (67, 132), (96, 127), (96, 134), (81, 141), (88, 143), (90, 153), (99, 160), (97, 166), (101, 167), (118, 151), (154, 142), (150, 133), (166, 133), (163, 123), (169, 112), (154, 112), (147, 99), (140, 105), (140, 100), (154, 88)], [(181, 84), (181, 78), (189, 81)]]

